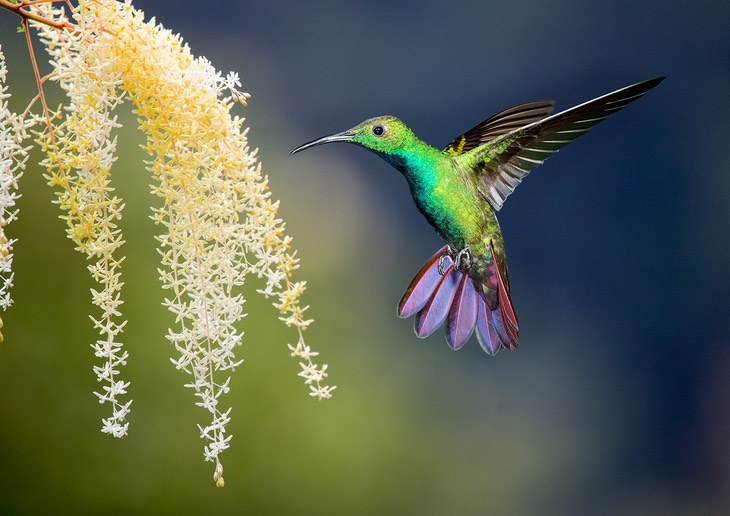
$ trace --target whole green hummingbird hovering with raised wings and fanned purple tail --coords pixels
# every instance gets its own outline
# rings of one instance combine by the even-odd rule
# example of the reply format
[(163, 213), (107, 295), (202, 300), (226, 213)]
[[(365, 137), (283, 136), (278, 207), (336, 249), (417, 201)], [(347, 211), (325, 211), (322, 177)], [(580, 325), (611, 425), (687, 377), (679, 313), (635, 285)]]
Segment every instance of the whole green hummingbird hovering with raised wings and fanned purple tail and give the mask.
[(554, 115), (552, 100), (518, 104), (457, 136), (443, 150), (418, 138), (398, 118), (378, 116), (305, 143), (292, 154), (346, 142), (403, 174), (416, 207), (446, 245), (416, 274), (397, 314), (416, 314), (420, 338), (445, 321), (446, 340), (455, 350), (476, 333), (481, 347), (493, 355), (516, 348), (519, 341), (496, 212), (532, 169), (664, 79), (639, 82)]

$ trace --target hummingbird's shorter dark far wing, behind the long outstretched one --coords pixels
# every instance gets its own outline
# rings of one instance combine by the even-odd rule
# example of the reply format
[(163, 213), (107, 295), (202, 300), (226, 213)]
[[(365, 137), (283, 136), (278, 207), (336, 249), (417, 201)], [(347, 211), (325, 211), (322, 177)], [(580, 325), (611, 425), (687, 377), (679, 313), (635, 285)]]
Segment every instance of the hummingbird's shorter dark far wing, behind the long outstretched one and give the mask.
[(553, 112), (554, 100), (539, 100), (518, 104), (487, 118), (461, 136), (457, 136), (444, 149), (450, 156), (463, 154), (520, 127), (542, 120)]

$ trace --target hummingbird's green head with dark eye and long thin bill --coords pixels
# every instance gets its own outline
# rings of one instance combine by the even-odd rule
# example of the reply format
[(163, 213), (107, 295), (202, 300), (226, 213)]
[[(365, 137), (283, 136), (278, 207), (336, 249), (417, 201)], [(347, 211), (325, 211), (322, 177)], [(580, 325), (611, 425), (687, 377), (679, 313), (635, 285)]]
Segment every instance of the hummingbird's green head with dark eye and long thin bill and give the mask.
[(294, 149), (292, 154), (323, 143), (349, 142), (381, 156), (388, 156), (405, 148), (413, 138), (413, 131), (396, 117), (378, 116), (365, 120), (347, 131), (305, 143)]

